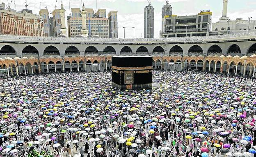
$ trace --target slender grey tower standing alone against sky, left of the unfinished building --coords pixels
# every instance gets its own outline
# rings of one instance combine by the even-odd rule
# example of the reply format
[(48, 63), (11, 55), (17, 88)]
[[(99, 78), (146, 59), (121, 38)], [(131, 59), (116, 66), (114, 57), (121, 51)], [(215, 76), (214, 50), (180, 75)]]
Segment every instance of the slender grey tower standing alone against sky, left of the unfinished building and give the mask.
[(144, 9), (144, 38), (154, 38), (154, 8), (151, 2)]

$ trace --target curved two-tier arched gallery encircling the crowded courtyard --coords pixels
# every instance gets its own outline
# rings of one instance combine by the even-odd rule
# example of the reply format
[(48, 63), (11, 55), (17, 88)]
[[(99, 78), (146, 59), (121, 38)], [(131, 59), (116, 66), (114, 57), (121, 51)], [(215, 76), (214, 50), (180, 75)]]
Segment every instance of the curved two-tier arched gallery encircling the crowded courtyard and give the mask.
[(0, 73), (111, 70), (114, 55), (152, 56), (154, 69), (254, 76), (256, 33), (160, 39), (0, 35)]

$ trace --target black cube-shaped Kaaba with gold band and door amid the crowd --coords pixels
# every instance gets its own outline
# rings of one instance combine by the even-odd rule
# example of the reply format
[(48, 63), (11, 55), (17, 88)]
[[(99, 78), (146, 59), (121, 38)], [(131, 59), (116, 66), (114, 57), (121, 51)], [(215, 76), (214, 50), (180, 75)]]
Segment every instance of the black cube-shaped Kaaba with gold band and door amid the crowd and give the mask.
[(126, 89), (152, 88), (152, 57), (112, 57), (112, 86)]

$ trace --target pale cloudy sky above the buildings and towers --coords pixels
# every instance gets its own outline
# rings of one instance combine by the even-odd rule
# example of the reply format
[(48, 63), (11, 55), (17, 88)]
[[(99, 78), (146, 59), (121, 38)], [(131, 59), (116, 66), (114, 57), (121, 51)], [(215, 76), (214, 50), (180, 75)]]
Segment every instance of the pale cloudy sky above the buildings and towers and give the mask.
[[(2, 0), (8, 5), (8, 0)], [(12, 1), (12, 2), (11, 2)], [(27, 1), (27, 9), (31, 9), (33, 13), (39, 15), (39, 10), (47, 7), (49, 11), (60, 9), (61, 0), (9, 0), (12, 9), (20, 11), (25, 8)], [(96, 7), (97, 1), (97, 7)], [(123, 38), (123, 27), (125, 29), (125, 37), (133, 38), (133, 27), (135, 27), (135, 38), (144, 37), (144, 8), (148, 5), (147, 0), (63, 0), (66, 15), (69, 15), (69, 2), (72, 8), (82, 8), (82, 2), (85, 8), (106, 9), (109, 13), (111, 10), (118, 11), (118, 37)], [(41, 4), (41, 5), (40, 5)], [(155, 9), (154, 21), (154, 38), (160, 37), (162, 7), (165, 0), (151, 0), (151, 4)], [(222, 15), (223, 0), (169, 0), (172, 6), (172, 14), (175, 15), (196, 15), (200, 10), (210, 9), (213, 12), (212, 22), (215, 23)], [(256, 20), (256, 0), (229, 0), (227, 16), (231, 20), (236, 18), (248, 19), (252, 17)]]

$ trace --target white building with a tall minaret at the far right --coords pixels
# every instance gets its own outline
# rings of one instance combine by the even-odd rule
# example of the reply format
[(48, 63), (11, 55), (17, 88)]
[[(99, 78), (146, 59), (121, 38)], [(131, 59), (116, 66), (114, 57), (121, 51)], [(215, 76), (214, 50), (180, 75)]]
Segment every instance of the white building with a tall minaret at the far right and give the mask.
[(235, 20), (231, 20), (227, 17), (227, 7), (228, 7), (228, 0), (223, 0), (223, 9), (222, 9), (222, 17), (219, 18), (219, 21), (213, 23), (213, 31), (211, 32), (212, 35), (217, 34), (225, 34), (230, 33), (232, 31), (242, 31), (247, 30), (255, 30), (256, 29), (256, 20), (242, 20), (242, 18), (236, 18)]

